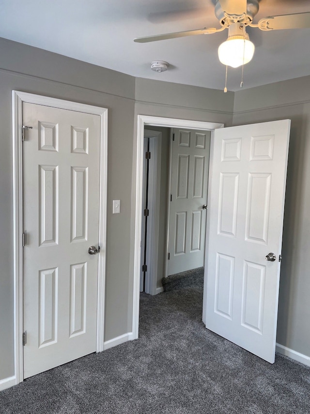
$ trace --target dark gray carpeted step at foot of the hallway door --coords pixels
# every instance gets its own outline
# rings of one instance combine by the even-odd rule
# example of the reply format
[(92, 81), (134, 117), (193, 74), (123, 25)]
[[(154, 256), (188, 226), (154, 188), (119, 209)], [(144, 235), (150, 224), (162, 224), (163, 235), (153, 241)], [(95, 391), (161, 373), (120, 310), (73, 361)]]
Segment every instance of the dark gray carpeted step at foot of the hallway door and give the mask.
[(181, 287), (189, 287), (193, 284), (203, 287), (203, 272), (204, 267), (197, 267), (196, 269), (186, 270), (185, 272), (176, 273), (175, 275), (162, 278), (161, 282), (164, 292), (180, 289)]

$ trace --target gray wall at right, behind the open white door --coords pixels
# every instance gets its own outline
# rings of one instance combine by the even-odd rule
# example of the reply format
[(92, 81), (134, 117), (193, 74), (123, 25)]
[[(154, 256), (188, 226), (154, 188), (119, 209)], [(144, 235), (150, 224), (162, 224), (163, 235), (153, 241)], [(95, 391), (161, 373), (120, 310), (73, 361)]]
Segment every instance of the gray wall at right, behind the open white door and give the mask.
[(291, 119), (277, 342), (310, 356), (310, 76), (235, 93), (233, 124)]

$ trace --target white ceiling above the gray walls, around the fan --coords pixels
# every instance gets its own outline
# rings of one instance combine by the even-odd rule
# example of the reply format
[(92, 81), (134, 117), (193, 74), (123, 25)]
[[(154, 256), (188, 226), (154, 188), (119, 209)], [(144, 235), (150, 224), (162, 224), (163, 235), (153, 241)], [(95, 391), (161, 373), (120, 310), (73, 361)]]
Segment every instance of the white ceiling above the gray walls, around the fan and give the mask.
[[(0, 37), (141, 78), (222, 89), (225, 66), (212, 35), (134, 43), (135, 37), (220, 27), (216, 0), (0, 0)], [(310, 12), (309, 0), (261, 0), (266, 16)], [(248, 28), (256, 46), (244, 68), (244, 88), (310, 75), (310, 29), (263, 32)], [(167, 61), (167, 72), (150, 69)], [(240, 89), (241, 68), (229, 68), (228, 90)]]

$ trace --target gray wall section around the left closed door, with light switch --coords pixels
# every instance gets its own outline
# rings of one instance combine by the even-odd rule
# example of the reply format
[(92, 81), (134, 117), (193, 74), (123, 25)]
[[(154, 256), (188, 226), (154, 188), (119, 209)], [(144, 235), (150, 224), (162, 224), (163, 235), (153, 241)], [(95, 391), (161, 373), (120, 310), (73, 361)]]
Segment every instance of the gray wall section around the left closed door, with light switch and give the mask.
[[(133, 77), (0, 39), (0, 380), (14, 375), (12, 90), (109, 109), (106, 340), (128, 331)], [(113, 86), (114, 85), (114, 86)], [(106, 91), (106, 92), (104, 92)], [(122, 213), (112, 215), (112, 199)]]

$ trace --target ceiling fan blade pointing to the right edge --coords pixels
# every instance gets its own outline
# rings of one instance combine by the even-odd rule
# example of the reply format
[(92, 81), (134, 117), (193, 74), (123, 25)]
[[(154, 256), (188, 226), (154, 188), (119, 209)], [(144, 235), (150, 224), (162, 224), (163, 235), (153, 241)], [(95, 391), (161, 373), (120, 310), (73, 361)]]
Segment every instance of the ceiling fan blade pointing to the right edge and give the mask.
[(258, 27), (261, 30), (307, 29), (310, 28), (310, 12), (264, 17)]

